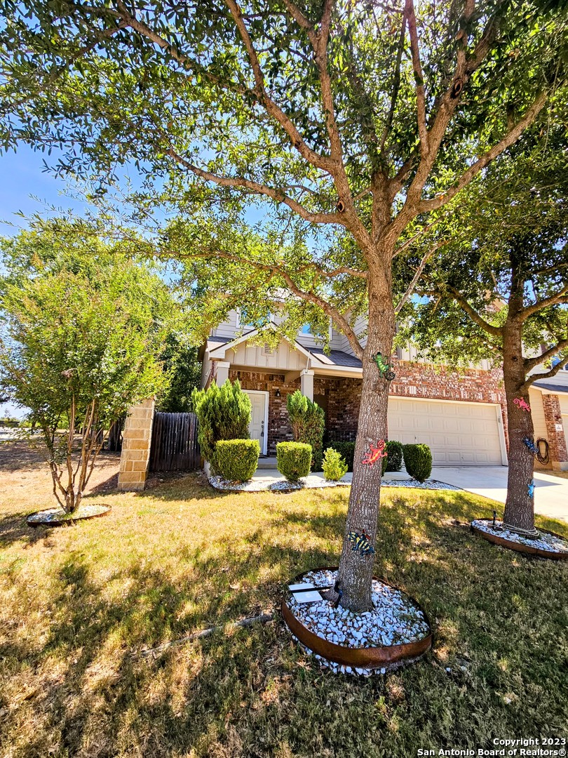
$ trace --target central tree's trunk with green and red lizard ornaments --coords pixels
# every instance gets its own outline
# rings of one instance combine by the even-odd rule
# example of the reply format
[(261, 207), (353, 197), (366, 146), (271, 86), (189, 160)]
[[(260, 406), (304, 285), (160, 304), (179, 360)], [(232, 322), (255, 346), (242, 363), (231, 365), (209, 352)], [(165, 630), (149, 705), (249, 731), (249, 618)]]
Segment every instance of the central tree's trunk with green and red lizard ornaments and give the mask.
[[(385, 269), (388, 271), (385, 274)], [(392, 306), (390, 267), (382, 271), (370, 271), (369, 277), (369, 327), (367, 346), (363, 357), (363, 386), (361, 388), (360, 411), (357, 427), (357, 441), (353, 464), (353, 481), (343, 550), (339, 562), (339, 589), (342, 591), (341, 604), (352, 611), (370, 610), (371, 582), (373, 578), (374, 555), (364, 555), (361, 550), (353, 550), (354, 544), (348, 539), (351, 531), (367, 534), (374, 547), (379, 515), (382, 459), (372, 465), (364, 463), (371, 446), (376, 447), (385, 440), (387, 433), (387, 404), (389, 382), (379, 372), (373, 356), (381, 352), (388, 360), (392, 352), (395, 336), (395, 311)]]

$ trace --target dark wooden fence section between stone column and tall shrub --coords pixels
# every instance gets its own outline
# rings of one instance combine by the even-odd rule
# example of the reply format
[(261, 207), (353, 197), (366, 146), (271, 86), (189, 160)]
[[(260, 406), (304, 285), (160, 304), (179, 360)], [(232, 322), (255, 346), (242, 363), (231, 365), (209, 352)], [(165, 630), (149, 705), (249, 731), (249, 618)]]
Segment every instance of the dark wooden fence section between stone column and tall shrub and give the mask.
[(195, 413), (155, 413), (150, 471), (192, 471), (200, 460)]

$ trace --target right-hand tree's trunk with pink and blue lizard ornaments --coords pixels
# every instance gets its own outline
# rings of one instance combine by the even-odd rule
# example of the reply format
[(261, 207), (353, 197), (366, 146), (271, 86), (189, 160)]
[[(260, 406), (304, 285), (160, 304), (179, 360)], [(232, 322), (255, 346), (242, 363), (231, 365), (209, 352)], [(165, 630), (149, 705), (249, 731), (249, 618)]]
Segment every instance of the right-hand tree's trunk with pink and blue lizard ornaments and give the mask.
[(523, 329), (520, 324), (505, 324), (503, 334), (503, 379), (507, 398), (507, 429), (509, 432), (509, 475), (504, 525), (513, 530), (534, 532), (535, 500), (529, 484), (535, 466), (535, 456), (525, 439), (534, 441), (532, 415), (523, 409), (530, 406), (529, 393), (521, 392), (525, 384), (523, 361)]

